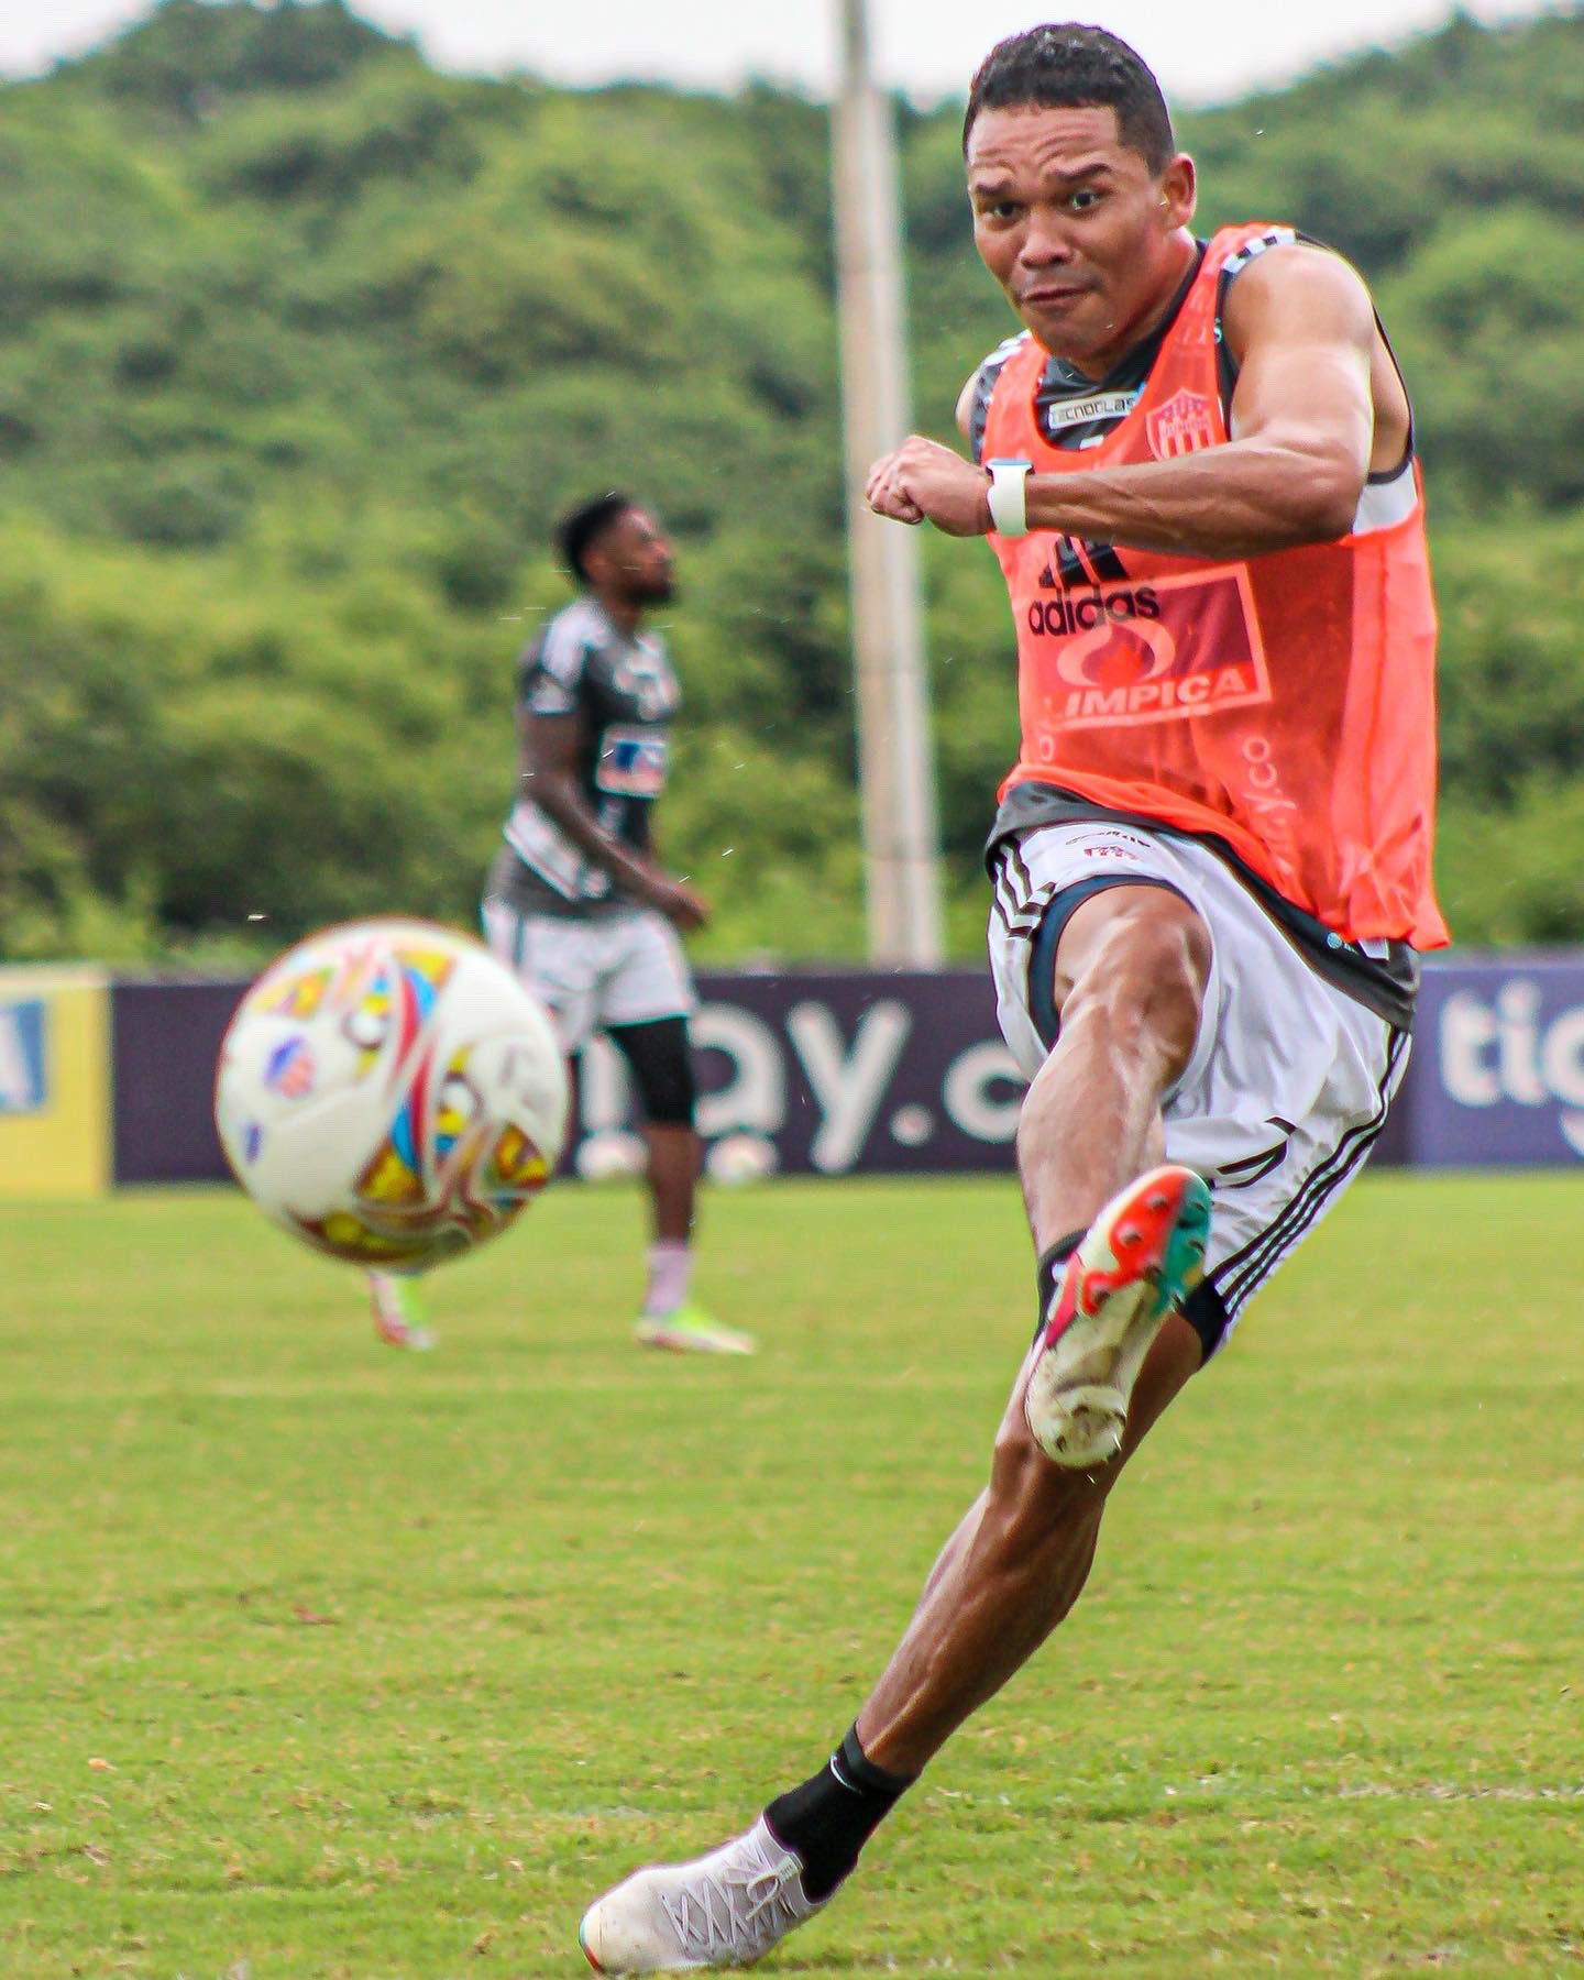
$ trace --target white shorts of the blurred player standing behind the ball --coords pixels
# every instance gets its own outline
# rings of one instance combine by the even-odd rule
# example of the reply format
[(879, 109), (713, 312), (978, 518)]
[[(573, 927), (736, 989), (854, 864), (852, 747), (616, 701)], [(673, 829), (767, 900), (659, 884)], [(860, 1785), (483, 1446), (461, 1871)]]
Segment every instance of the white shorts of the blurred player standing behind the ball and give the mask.
[(485, 899), (481, 913), (491, 950), (550, 1012), (568, 1057), (610, 1026), (697, 1010), (677, 931), (649, 907), (572, 921)]

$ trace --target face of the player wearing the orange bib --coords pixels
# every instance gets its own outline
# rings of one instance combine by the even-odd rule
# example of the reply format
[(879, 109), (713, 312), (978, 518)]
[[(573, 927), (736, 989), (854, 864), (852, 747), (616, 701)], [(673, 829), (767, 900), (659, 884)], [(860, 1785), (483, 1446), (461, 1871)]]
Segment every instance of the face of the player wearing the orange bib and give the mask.
[(974, 244), (1012, 307), (1093, 378), (1154, 327), (1192, 253), (1192, 158), (1152, 172), (1109, 105), (980, 111), (968, 198)]

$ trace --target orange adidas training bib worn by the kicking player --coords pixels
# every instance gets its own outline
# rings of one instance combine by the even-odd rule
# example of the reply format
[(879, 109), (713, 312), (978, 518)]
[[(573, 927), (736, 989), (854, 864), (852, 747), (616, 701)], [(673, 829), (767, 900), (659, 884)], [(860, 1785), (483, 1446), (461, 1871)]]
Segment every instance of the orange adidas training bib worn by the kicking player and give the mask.
[[(984, 459), (1081, 473), (1224, 444), (1222, 273), (1267, 232), (1216, 234), (1138, 402), (1099, 446), (1043, 438), (1034, 396), (1047, 352), (1026, 337), (996, 378)], [(1022, 744), (1002, 796), (1055, 784), (1214, 834), (1348, 940), (1445, 944), (1418, 467), (1402, 519), (1267, 556), (1164, 556), (1053, 531), (990, 546), (1018, 626)]]

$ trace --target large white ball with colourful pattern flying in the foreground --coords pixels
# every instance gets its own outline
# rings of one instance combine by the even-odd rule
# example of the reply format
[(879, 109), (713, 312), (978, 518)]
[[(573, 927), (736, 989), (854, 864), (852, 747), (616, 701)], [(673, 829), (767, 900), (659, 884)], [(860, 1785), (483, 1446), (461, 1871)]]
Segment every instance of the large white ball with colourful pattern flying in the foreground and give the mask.
[(503, 1232), (566, 1133), (550, 1020), (479, 942), (354, 921), (289, 948), (226, 1030), (214, 1123), (265, 1216), (356, 1265), (426, 1271)]

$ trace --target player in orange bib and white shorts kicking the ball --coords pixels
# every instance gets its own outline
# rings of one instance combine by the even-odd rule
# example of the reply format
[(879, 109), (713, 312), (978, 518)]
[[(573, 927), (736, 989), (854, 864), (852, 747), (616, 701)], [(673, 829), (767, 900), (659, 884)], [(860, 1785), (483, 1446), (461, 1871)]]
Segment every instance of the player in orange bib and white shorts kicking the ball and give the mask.
[(970, 459), (913, 438), (867, 495), (988, 537), (1012, 598), (990, 950), (1038, 1329), (857, 1721), (744, 1835), (590, 1907), (608, 1974), (766, 1952), (1055, 1630), (1123, 1465), (1358, 1172), (1447, 939), (1424, 507), (1364, 283), (1285, 226), (1196, 240), (1158, 85), (1097, 28), (994, 48), (964, 158), (1026, 331), (962, 394)]

